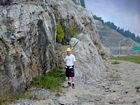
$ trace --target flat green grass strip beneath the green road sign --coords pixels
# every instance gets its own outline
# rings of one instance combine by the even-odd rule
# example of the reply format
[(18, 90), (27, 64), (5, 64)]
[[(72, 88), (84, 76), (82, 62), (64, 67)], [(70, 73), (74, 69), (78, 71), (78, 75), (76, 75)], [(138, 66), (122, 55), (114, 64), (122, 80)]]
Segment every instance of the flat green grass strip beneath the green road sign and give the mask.
[(121, 57), (112, 57), (114, 60), (125, 60), (140, 64), (140, 56), (121, 56)]

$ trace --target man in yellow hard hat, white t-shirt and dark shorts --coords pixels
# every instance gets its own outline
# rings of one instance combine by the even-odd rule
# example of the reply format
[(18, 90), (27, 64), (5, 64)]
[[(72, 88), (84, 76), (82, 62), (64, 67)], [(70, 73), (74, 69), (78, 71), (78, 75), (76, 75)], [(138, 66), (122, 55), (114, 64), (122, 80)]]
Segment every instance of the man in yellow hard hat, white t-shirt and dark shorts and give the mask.
[(74, 85), (74, 70), (76, 66), (76, 59), (73, 54), (71, 54), (71, 49), (67, 48), (66, 49), (67, 55), (64, 58), (64, 62), (66, 62), (66, 77), (68, 77), (68, 86), (72, 85), (72, 88), (75, 88)]

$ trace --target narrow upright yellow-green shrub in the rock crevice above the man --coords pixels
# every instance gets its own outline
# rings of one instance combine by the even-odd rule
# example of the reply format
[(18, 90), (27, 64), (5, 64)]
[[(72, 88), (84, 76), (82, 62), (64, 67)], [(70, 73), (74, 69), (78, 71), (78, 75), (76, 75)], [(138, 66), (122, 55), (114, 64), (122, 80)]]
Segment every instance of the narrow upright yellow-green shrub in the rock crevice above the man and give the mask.
[(63, 40), (63, 38), (64, 38), (64, 30), (63, 30), (61, 24), (58, 23), (58, 25), (57, 25), (56, 41), (57, 41), (58, 43), (61, 43), (62, 40)]

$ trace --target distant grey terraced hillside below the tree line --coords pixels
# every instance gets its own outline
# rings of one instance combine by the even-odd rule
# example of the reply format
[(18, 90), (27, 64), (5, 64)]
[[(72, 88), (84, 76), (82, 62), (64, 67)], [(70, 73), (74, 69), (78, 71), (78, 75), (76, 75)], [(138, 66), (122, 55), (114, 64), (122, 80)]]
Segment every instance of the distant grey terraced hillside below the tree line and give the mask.
[(131, 38), (126, 38), (117, 31), (103, 25), (99, 20), (95, 20), (96, 28), (105, 47), (108, 47), (112, 55), (140, 54), (140, 51), (133, 51), (133, 46), (140, 46)]

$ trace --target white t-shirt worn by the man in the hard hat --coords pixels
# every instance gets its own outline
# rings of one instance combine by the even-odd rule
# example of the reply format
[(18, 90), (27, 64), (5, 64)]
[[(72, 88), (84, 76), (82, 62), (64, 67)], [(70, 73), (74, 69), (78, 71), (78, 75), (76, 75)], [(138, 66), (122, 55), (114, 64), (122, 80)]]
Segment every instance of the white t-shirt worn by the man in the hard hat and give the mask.
[(73, 66), (76, 61), (73, 54), (70, 54), (69, 56), (67, 55), (64, 60), (66, 62), (66, 66)]

